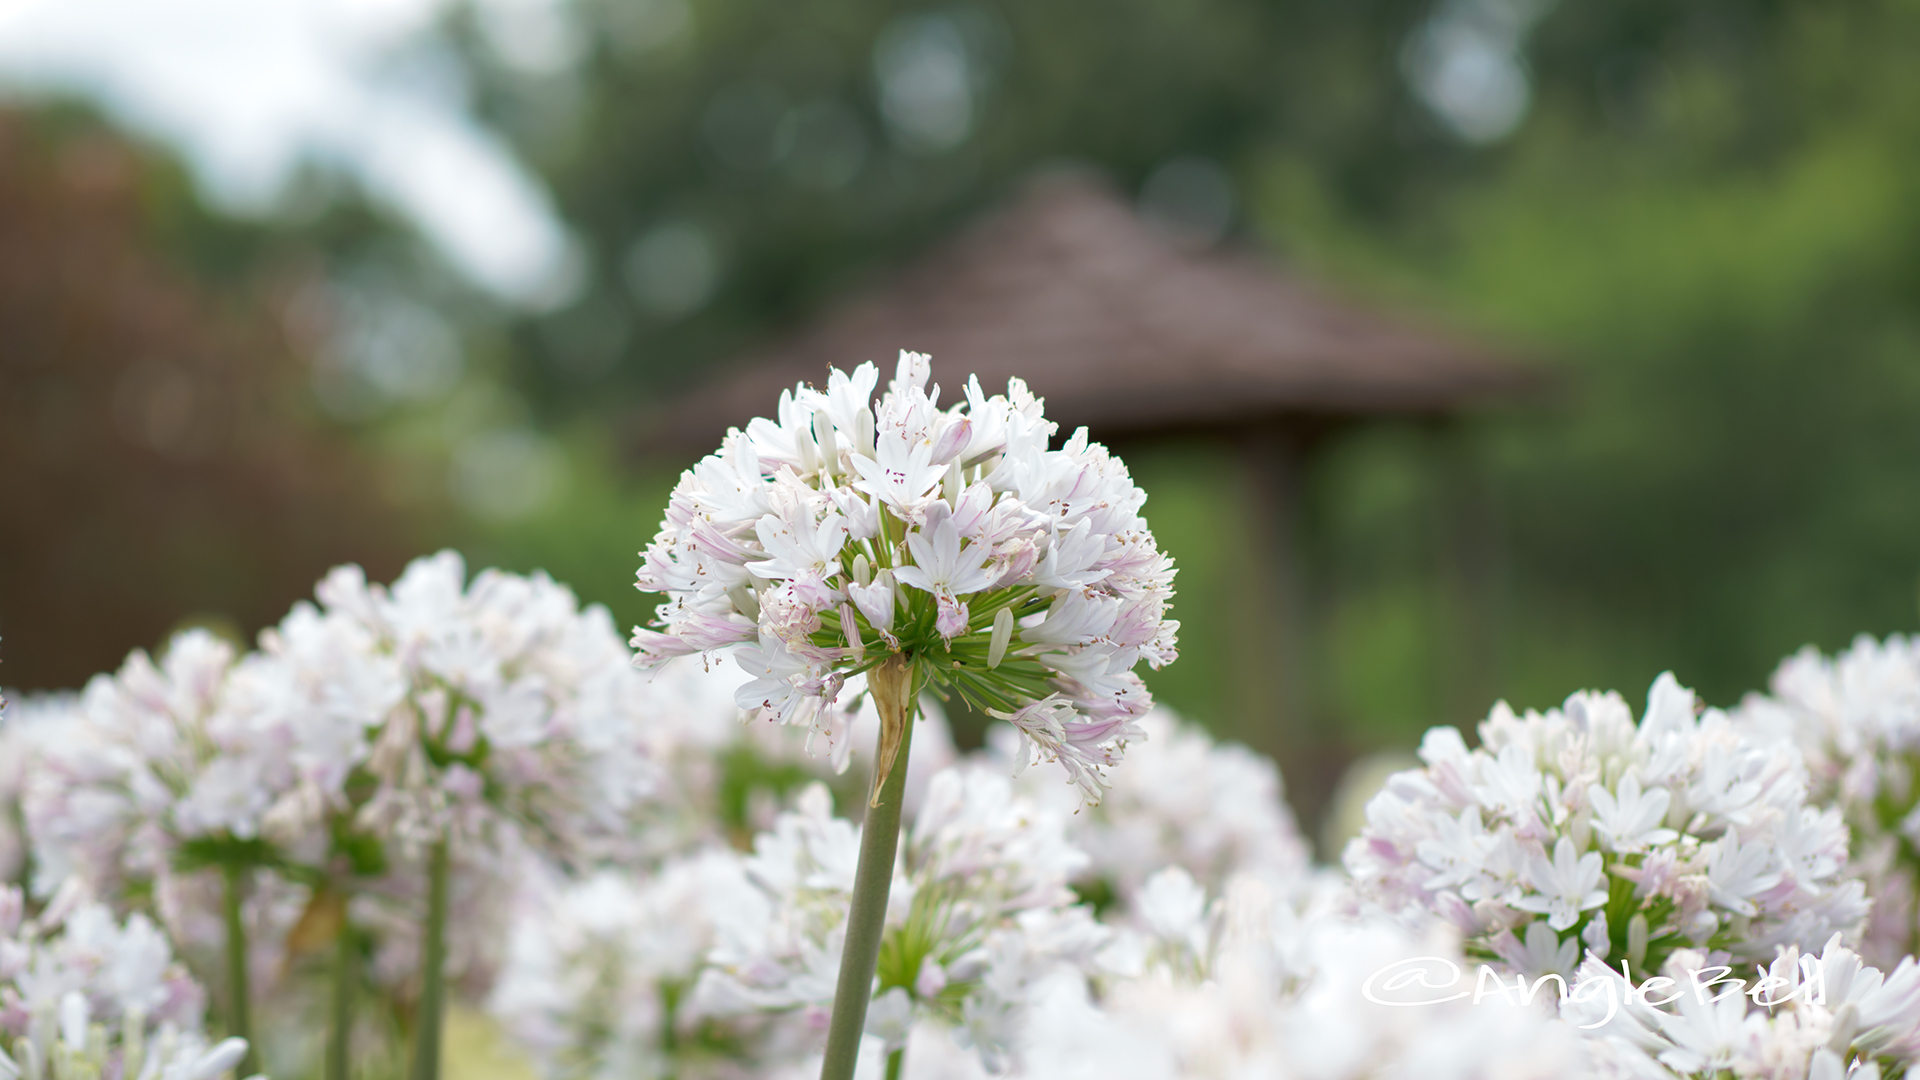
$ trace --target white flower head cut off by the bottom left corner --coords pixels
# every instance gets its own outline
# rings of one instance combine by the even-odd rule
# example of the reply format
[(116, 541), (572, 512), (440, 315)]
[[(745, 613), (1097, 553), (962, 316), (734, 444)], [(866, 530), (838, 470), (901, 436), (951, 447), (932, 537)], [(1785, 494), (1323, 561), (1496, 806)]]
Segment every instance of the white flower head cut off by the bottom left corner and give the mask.
[(207, 1045), (205, 994), (142, 915), (125, 922), (71, 882), (25, 919), (0, 888), (0, 1078), (217, 1080), (246, 1053)]

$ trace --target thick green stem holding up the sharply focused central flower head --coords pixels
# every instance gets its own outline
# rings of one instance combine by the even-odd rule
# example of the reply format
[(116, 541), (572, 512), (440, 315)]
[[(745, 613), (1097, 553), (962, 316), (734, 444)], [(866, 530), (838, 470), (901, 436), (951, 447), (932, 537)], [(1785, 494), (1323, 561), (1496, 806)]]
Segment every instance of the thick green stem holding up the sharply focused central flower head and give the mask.
[(860, 865), (852, 876), (847, 944), (841, 949), (841, 972), (833, 988), (833, 1017), (828, 1020), (828, 1055), (820, 1065), (820, 1080), (852, 1080), (852, 1068), (860, 1057), (866, 1003), (874, 994), (874, 969), (879, 965), (879, 938), (887, 928), (893, 859), (900, 847), (906, 751), (914, 738), (914, 665), (895, 657), (870, 671), (866, 678), (874, 703), (879, 707), (881, 742), (887, 740), (889, 719), (900, 724), (900, 742), (893, 769), (868, 803), (866, 821), (860, 826)]

